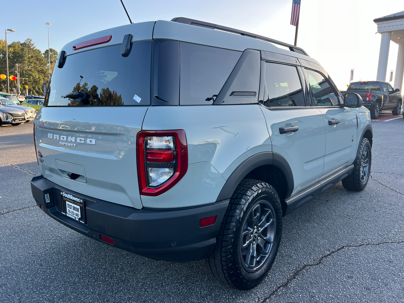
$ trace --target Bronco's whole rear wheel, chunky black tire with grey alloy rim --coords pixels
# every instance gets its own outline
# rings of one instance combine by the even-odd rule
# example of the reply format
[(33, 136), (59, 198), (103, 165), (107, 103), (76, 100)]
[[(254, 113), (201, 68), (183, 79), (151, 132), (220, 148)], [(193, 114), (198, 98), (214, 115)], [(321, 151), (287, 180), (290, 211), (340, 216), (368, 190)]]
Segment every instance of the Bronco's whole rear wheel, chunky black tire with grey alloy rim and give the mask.
[(271, 269), (281, 235), (282, 207), (274, 187), (243, 179), (231, 196), (206, 264), (221, 284), (249, 290)]

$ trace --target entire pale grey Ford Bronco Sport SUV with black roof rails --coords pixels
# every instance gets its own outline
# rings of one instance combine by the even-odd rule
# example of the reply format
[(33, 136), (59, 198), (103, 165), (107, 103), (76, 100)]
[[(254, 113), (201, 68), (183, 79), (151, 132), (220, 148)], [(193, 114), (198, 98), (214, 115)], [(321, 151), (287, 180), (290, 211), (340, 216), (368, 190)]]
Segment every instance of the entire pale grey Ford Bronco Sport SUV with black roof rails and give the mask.
[(283, 216), (341, 180), (365, 188), (372, 126), (301, 48), (180, 17), (66, 44), (34, 137), (47, 215), (152, 259), (206, 258), (246, 290)]

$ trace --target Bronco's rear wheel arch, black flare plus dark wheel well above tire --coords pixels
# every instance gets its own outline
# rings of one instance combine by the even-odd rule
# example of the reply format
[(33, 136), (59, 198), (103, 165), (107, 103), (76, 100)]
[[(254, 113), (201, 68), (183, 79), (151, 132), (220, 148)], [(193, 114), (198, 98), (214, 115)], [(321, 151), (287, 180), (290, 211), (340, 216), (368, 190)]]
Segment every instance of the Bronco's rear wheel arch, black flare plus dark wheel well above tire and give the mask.
[(295, 183), (292, 170), (284, 157), (270, 151), (255, 154), (240, 164), (227, 179), (217, 201), (231, 198), (242, 179), (256, 179), (268, 183), (278, 193), (283, 212), (284, 202), (292, 194)]

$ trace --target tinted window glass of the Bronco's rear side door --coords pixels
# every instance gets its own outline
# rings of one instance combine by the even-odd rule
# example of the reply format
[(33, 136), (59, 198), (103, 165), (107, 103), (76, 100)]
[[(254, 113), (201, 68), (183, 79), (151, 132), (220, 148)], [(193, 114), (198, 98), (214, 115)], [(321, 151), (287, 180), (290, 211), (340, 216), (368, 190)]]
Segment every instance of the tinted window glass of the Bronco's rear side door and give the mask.
[(266, 62), (264, 90), (264, 100), (260, 102), (265, 106), (305, 106), (295, 66)]

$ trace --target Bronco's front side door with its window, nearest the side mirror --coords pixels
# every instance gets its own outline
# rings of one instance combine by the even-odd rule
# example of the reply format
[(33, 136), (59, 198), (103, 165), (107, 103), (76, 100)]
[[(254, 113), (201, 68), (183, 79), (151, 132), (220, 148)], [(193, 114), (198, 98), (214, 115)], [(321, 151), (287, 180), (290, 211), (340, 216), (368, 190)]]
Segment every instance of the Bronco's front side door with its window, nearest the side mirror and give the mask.
[(326, 133), (322, 178), (353, 162), (356, 156), (357, 118), (353, 108), (341, 107), (330, 80), (318, 71), (304, 69), (310, 84), (311, 104), (323, 117)]

